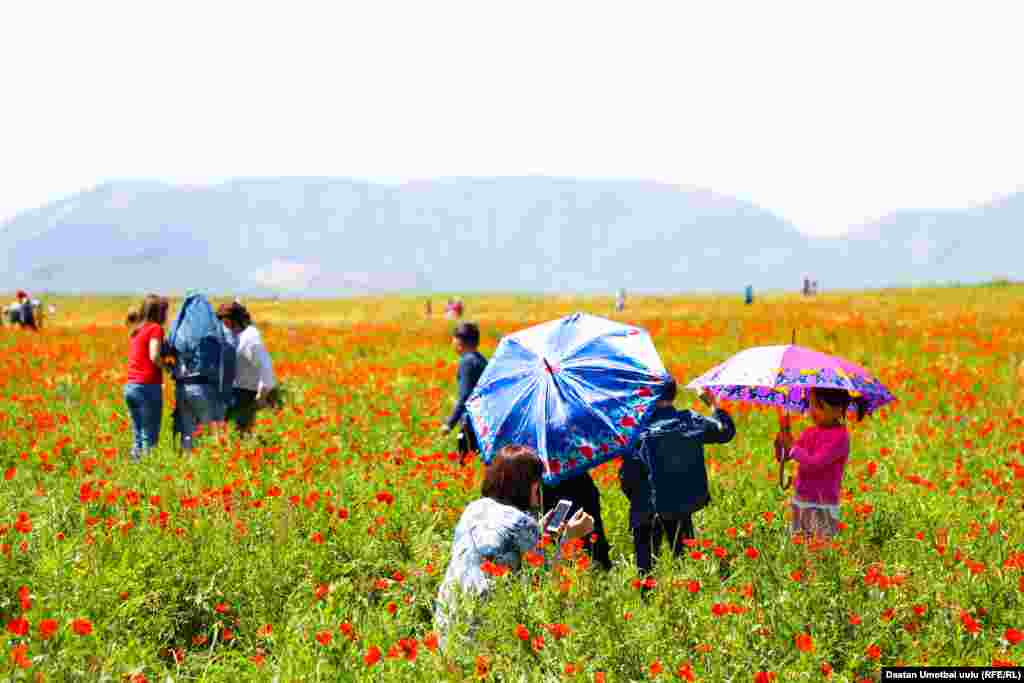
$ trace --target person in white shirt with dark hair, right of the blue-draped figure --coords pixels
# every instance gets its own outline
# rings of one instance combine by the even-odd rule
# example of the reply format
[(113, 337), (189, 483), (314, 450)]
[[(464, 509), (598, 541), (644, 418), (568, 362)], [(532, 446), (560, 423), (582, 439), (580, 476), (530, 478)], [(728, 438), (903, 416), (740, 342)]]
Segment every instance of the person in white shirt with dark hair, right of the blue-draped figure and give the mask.
[(223, 304), (217, 309), (217, 317), (237, 340), (234, 400), (227, 418), (234, 421), (240, 432), (246, 433), (252, 429), (256, 411), (264, 403), (276, 402), (278, 379), (263, 337), (246, 307), (239, 303)]

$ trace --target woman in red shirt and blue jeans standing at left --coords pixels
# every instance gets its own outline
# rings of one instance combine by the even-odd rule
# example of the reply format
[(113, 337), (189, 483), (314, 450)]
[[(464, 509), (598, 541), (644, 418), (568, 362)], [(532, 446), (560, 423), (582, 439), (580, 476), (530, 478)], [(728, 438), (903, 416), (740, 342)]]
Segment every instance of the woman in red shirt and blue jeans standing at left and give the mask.
[(167, 299), (156, 294), (148, 295), (142, 301), (137, 324), (131, 331), (125, 402), (128, 403), (135, 432), (131, 450), (135, 462), (160, 440), (160, 421), (164, 411), (160, 347), (164, 341), (167, 307)]

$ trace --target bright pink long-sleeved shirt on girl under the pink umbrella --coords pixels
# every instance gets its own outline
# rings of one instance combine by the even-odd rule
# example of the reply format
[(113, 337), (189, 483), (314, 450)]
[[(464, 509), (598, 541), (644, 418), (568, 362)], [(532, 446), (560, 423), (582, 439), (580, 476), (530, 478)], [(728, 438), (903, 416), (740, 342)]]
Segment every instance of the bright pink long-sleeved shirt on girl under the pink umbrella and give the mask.
[(798, 500), (839, 505), (843, 470), (850, 459), (850, 432), (846, 426), (808, 427), (793, 444), (790, 457), (800, 463)]

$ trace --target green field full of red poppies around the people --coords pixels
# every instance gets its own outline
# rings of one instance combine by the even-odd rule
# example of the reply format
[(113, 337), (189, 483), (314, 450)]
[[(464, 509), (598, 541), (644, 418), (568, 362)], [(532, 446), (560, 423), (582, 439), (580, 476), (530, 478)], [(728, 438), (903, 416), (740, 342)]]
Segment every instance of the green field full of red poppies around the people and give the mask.
[[(246, 302), (284, 407), (182, 455), (165, 381), (140, 464), (122, 395), (137, 302), (56, 299), (41, 334), (0, 328), (0, 676), (761, 683), (1024, 665), (1024, 287), (633, 297), (622, 313), (466, 297), (488, 357), (503, 334), (582, 310), (648, 330), (680, 384), (795, 336), (898, 400), (850, 425), (833, 542), (786, 533), (774, 412), (726, 404), (737, 436), (707, 450), (713, 503), (685, 558), (665, 553), (641, 591), (607, 463), (613, 569), (494, 566), (483, 626), (444, 649), (433, 600), (481, 470), (439, 432), (457, 362), (442, 301), (429, 318), (422, 297)], [(705, 410), (690, 392), (677, 405)]]

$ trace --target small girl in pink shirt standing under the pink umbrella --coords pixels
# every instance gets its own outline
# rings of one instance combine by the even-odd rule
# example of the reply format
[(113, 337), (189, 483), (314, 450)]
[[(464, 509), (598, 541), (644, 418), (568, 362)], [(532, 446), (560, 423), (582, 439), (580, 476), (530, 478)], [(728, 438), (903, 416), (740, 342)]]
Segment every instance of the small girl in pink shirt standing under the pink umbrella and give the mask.
[[(850, 432), (846, 415), (853, 399), (843, 389), (810, 389), (808, 427), (796, 441), (783, 422), (775, 435), (775, 458), (778, 462), (795, 460), (796, 490), (790, 505), (793, 509), (793, 535), (831, 538), (839, 530), (840, 492), (843, 473), (850, 459)], [(864, 415), (863, 401), (855, 401), (857, 419)]]

